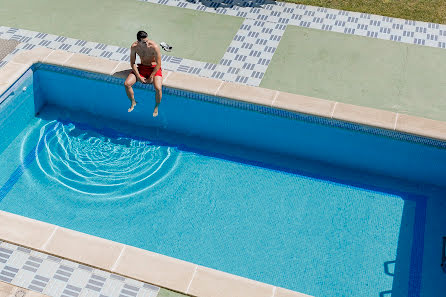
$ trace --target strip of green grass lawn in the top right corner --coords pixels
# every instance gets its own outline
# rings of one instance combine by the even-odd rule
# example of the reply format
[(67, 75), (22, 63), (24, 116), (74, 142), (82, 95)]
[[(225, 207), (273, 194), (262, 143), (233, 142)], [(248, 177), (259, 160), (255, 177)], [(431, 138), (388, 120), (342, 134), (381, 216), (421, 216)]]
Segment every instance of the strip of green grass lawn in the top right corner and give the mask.
[(445, 0), (282, 0), (389, 17), (446, 24)]

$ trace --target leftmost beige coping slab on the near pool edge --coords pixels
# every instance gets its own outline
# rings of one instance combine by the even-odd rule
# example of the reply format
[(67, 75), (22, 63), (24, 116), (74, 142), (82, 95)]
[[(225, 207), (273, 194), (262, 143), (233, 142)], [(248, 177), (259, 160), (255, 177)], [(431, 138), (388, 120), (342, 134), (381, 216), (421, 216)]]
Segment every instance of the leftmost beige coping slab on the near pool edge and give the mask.
[(42, 249), (55, 226), (0, 211), (0, 238), (19, 245)]

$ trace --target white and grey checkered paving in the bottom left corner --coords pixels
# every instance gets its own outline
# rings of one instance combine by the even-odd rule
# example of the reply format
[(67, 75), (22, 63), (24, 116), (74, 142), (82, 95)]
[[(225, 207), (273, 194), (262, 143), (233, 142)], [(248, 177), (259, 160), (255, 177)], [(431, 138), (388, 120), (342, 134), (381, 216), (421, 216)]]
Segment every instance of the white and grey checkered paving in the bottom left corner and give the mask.
[(156, 297), (160, 290), (1, 241), (0, 281), (51, 297)]

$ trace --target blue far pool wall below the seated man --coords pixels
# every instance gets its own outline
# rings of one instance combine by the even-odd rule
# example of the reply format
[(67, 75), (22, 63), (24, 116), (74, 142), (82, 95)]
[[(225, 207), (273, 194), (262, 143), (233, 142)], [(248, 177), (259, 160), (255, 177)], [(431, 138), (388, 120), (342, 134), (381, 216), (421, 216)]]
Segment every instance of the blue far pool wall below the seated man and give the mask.
[[(445, 186), (446, 142), (171, 88), (163, 89), (160, 116), (153, 119), (151, 85), (135, 87), (135, 98), (140, 100), (135, 111), (127, 113), (123, 79), (47, 64), (36, 64), (33, 69), (49, 104)], [(77, 95), (79, 92), (84, 96)]]

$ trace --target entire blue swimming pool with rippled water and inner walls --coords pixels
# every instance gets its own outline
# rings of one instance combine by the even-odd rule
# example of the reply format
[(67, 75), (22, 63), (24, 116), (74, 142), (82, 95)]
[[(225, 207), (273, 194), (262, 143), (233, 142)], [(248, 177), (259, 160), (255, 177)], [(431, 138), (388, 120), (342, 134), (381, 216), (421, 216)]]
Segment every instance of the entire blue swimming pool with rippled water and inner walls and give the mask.
[[(0, 209), (313, 296), (419, 296), (446, 144), (36, 64), (0, 105)], [(25, 195), (24, 195), (25, 193)]]

